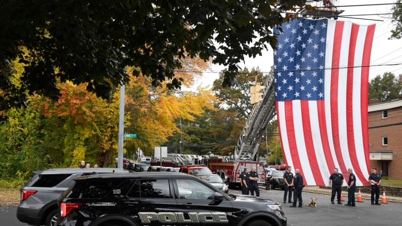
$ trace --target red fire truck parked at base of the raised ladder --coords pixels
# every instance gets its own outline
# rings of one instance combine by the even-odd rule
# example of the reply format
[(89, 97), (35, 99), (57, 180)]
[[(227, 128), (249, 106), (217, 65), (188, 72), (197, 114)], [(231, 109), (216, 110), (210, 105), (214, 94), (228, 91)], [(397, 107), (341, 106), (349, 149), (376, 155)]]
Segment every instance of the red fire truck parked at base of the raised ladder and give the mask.
[(221, 178), (226, 181), (229, 186), (239, 186), (240, 184), (240, 174), (244, 171), (244, 167), (249, 168), (251, 171), (252, 167), (255, 167), (258, 173), (258, 184), (265, 185), (265, 168), (264, 163), (255, 161), (225, 161), (222, 158), (211, 157), (208, 159), (208, 168), (215, 174), (221, 176)]

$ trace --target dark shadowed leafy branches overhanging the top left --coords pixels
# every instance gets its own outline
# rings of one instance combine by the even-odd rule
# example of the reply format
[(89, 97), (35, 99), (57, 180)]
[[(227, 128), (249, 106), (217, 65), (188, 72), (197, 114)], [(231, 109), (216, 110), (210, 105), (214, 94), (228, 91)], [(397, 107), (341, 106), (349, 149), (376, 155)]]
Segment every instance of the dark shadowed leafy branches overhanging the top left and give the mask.
[[(169, 80), (181, 86), (174, 70), (197, 55), (228, 68), (223, 85), (234, 84), (244, 56), (261, 55), (275, 45), (272, 28), (306, 0), (245, 1), (2, 1), (0, 4), (0, 102), (3, 109), (25, 105), (27, 94), (57, 100), (58, 81), (85, 84), (97, 96), (133, 74), (154, 86)], [(25, 48), (22, 48), (25, 47)], [(24, 64), (21, 83), (10, 63)]]

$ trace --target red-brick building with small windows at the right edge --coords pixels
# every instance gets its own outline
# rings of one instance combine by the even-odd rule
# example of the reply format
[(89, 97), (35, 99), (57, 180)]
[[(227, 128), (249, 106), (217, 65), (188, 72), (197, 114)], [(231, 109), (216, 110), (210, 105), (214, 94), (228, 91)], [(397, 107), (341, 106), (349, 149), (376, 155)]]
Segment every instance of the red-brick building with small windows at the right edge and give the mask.
[(368, 134), (371, 168), (402, 179), (402, 99), (368, 105)]

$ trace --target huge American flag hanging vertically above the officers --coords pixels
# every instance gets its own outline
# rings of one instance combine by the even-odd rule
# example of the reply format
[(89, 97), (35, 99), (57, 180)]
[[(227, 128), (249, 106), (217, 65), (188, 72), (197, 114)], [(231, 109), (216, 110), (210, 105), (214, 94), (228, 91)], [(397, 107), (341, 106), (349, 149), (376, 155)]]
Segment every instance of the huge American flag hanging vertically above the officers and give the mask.
[(276, 109), (285, 161), (305, 184), (328, 186), (338, 168), (369, 185), (368, 66), (374, 25), (291, 20), (274, 51)]

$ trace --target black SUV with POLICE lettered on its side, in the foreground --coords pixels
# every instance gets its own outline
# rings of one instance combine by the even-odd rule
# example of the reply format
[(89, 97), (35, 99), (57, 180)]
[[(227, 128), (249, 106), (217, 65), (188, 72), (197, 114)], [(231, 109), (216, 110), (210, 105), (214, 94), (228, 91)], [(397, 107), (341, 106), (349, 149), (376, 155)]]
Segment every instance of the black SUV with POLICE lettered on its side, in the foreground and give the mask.
[(277, 201), (228, 195), (183, 173), (98, 174), (74, 180), (58, 199), (61, 226), (286, 225)]

